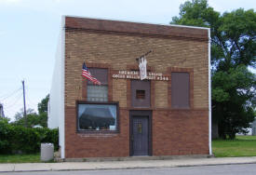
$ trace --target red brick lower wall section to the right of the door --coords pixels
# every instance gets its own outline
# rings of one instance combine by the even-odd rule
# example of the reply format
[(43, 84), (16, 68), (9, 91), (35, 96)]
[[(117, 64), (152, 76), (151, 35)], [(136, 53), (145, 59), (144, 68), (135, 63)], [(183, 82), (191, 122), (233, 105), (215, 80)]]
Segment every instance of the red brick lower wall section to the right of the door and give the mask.
[(207, 110), (153, 113), (153, 155), (208, 155)]

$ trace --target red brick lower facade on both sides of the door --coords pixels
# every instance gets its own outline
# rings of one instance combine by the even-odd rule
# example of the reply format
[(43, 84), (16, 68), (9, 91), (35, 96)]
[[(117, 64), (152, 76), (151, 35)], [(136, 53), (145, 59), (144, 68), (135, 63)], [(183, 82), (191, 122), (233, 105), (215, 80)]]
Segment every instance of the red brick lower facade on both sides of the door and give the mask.
[[(120, 109), (118, 133), (76, 131), (76, 110), (65, 108), (65, 155), (129, 156), (129, 110)], [(207, 110), (153, 110), (153, 155), (208, 155)]]

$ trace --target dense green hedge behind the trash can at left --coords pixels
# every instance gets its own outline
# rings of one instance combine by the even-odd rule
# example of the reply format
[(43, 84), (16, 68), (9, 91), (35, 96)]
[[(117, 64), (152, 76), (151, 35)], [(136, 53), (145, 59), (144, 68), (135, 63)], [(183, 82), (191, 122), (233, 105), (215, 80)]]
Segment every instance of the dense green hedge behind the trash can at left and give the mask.
[(52, 142), (55, 150), (58, 150), (59, 130), (24, 128), (0, 120), (0, 154), (38, 153), (41, 142)]

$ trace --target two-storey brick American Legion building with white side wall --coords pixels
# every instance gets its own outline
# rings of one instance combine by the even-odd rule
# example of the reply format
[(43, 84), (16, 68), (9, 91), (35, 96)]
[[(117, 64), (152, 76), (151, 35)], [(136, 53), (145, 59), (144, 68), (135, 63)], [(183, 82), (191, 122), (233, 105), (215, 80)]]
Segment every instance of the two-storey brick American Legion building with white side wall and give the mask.
[(211, 155), (209, 78), (208, 28), (63, 17), (48, 126), (62, 158)]

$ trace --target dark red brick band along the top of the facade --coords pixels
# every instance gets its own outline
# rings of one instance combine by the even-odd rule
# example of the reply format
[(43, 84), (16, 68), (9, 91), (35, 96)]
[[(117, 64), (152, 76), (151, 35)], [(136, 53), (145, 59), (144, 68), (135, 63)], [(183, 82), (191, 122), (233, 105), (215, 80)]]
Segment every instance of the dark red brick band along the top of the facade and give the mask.
[(65, 19), (65, 28), (67, 29), (209, 39), (209, 28), (204, 27), (152, 24), (124, 20), (102, 20), (74, 16), (63, 16), (63, 18)]

